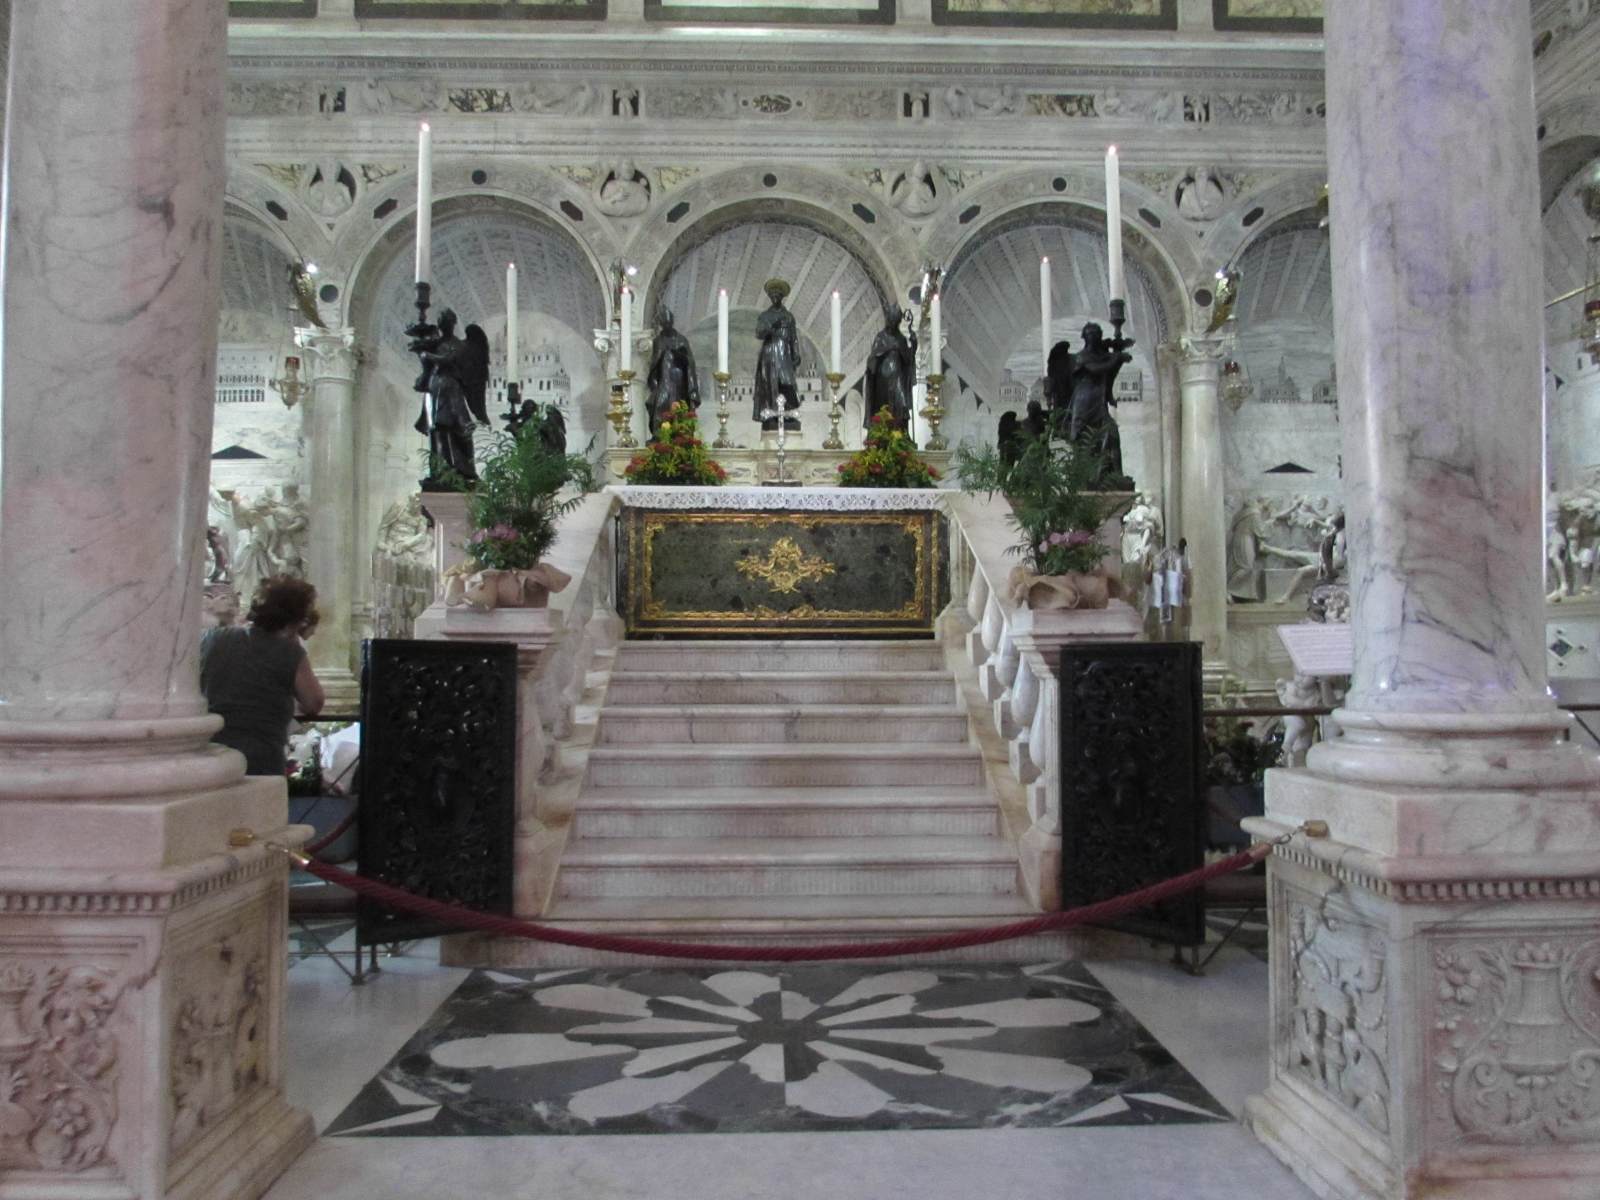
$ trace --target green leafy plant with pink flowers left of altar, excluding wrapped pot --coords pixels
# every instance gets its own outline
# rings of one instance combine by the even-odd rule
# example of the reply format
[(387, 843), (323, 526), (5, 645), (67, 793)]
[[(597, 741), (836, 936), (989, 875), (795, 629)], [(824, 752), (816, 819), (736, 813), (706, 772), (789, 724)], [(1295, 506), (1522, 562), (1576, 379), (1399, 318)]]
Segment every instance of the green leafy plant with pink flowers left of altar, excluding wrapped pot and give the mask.
[(470, 558), (467, 566), (531, 570), (555, 542), (557, 520), (597, 486), (594, 464), (581, 454), (552, 453), (538, 426), (496, 434), (478, 462), (477, 483), (466, 488), (472, 536), (461, 549)]

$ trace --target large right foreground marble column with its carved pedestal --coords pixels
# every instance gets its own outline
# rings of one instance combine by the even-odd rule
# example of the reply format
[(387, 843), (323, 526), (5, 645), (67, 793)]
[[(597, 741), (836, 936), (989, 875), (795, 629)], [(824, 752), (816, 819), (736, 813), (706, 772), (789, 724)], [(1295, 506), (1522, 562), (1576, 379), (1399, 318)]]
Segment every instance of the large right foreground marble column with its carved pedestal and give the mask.
[[(1546, 693), (1531, 22), (1328, 6), (1355, 674), (1274, 771), (1270, 1085), (1323, 1197), (1600, 1189), (1600, 762)], [(1470, 181), (1467, 186), (1466, 181)]]

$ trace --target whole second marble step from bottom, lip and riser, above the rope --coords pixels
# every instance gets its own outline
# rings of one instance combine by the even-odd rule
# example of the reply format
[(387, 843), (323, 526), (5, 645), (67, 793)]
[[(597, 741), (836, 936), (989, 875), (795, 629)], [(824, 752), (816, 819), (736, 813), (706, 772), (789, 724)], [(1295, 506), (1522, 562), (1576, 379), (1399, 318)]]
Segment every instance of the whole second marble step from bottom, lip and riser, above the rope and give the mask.
[(574, 838), (557, 880), (574, 899), (1014, 891), (1016, 850), (998, 837)]

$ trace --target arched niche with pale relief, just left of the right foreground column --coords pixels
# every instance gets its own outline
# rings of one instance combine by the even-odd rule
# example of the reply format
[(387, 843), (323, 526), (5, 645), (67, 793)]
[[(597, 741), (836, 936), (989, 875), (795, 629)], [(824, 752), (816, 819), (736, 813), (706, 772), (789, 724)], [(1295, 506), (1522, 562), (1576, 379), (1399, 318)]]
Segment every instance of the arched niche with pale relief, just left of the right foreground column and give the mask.
[[(1315, 208), (1262, 229), (1237, 259), (1235, 350), (1250, 398), (1222, 406), (1229, 520), (1246, 504), (1269, 510), (1264, 539), (1314, 552), (1320, 522), (1344, 504), (1333, 346), (1333, 264)], [(1294, 578), (1290, 560), (1267, 563), (1272, 600)], [(1277, 571), (1278, 574), (1274, 574)]]

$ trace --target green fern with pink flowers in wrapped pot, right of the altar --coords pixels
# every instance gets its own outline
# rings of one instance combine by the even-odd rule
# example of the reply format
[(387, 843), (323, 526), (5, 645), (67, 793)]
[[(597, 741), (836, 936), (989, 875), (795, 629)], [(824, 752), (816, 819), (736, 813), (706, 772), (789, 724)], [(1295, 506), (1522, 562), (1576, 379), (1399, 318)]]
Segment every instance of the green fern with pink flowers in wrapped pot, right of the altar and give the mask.
[(1011, 598), (1027, 608), (1104, 608), (1122, 582), (1104, 568), (1110, 547), (1099, 530), (1110, 501), (1091, 491), (1099, 458), (1050, 437), (1013, 445), (1014, 454), (1002, 456), (995, 446), (962, 446), (955, 454), (965, 491), (998, 491), (1011, 504), (1021, 536), (1010, 552), (1024, 560), (1011, 571)]

